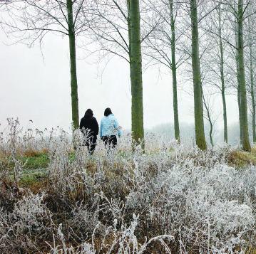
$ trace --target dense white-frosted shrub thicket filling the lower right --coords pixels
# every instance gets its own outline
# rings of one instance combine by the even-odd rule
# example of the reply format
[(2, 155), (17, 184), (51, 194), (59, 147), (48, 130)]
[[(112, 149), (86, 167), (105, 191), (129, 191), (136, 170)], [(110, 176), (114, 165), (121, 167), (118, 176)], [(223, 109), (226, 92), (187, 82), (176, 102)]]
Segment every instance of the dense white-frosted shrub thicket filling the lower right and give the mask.
[[(163, 164), (151, 179), (145, 179), (144, 159), (144, 166), (138, 164), (138, 170), (135, 166), (127, 208), (143, 211), (145, 228), (176, 236), (182, 243), (181, 252), (193, 246), (203, 253), (220, 249), (232, 253), (244, 246), (255, 231), (255, 175), (252, 167), (237, 171), (227, 166), (219, 149), (216, 154), (219, 159), (208, 155), (205, 166), (193, 159)], [(234, 241), (234, 236), (239, 238)]]

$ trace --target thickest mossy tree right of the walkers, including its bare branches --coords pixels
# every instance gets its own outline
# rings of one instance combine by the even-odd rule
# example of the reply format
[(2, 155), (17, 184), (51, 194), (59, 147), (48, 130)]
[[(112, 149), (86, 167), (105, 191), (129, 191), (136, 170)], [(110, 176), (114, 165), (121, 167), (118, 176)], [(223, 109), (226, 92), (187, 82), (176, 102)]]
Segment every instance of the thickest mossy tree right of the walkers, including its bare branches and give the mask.
[(140, 31), (141, 9), (138, 0), (94, 0), (91, 12), (96, 18), (90, 23), (92, 41), (98, 45), (92, 53), (100, 52), (103, 58), (117, 55), (129, 65), (135, 144), (143, 144), (144, 139), (141, 43), (153, 30)]

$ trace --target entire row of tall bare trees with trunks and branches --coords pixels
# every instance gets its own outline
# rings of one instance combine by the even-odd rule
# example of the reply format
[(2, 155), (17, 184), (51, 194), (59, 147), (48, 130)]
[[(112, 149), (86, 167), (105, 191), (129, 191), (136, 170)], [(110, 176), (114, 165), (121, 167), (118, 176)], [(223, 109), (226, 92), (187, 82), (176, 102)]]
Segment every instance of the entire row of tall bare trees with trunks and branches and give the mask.
[(31, 45), (41, 43), (47, 33), (68, 36), (73, 127), (79, 118), (76, 46), (79, 40), (91, 40), (104, 57), (118, 55), (129, 65), (135, 143), (144, 137), (143, 58), (145, 65), (163, 65), (172, 75), (175, 139), (180, 141), (180, 73), (193, 83), (198, 147), (207, 148), (205, 119), (213, 144), (215, 120), (209, 101), (216, 93), (222, 97), (223, 140), (228, 142), (225, 96), (235, 91), (241, 144), (250, 151), (248, 105), (256, 141), (255, 10), (255, 0), (13, 0), (1, 4), (1, 26)]

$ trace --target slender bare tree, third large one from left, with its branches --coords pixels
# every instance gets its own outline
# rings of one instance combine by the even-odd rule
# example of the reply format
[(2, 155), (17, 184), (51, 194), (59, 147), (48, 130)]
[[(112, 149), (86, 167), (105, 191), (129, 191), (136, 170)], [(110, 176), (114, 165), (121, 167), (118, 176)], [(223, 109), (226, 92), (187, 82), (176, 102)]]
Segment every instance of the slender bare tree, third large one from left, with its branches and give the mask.
[(181, 20), (178, 20), (180, 4), (174, 0), (150, 0), (149, 2), (150, 9), (155, 14), (149, 14), (149, 16), (156, 16), (157, 19), (151, 23), (158, 23), (158, 26), (147, 37), (143, 54), (148, 56), (150, 64), (163, 65), (172, 73), (174, 136), (180, 142), (177, 70), (190, 57), (187, 52), (183, 52), (181, 38), (184, 37), (184, 32), (177, 33), (177, 30), (182, 30), (179, 29), (180, 27), (177, 29), (177, 26), (183, 26)]

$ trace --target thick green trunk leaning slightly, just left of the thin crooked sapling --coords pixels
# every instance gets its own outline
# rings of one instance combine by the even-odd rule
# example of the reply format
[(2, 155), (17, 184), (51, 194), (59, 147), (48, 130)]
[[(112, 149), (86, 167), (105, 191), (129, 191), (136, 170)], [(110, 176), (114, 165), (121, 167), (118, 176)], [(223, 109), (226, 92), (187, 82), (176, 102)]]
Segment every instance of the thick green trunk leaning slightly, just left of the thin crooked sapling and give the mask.
[(192, 28), (192, 68), (194, 86), (195, 142), (200, 149), (207, 149), (203, 122), (203, 100), (199, 59), (198, 8), (197, 1), (190, 0), (190, 18)]

